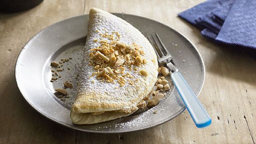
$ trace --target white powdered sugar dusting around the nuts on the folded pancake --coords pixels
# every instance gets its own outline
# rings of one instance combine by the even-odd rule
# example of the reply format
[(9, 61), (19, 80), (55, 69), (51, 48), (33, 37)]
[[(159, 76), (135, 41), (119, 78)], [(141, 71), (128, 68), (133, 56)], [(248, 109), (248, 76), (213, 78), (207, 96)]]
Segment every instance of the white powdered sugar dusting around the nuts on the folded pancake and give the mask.
[[(99, 14), (100, 13), (100, 14)], [(107, 12), (99, 11), (93, 15), (93, 19), (89, 23), (89, 34), (87, 35), (87, 42), (84, 49), (84, 64), (80, 73), (80, 85), (78, 90), (78, 97), (81, 101), (104, 103), (109, 105), (115, 105), (114, 109), (132, 109), (136, 107), (136, 104), (141, 101), (148, 92), (151, 91), (157, 77), (157, 63), (152, 62), (154, 59), (157, 61), (156, 54), (153, 47), (148, 40), (133, 26), (120, 19), (119, 17), (113, 16)], [(95, 18), (96, 17), (96, 18)], [(99, 32), (97, 32), (99, 30)], [(125, 84), (123, 87), (119, 87), (119, 84), (105, 83), (92, 77), (93, 67), (89, 66), (89, 53), (90, 49), (96, 48), (100, 43), (95, 43), (93, 40), (107, 40), (107, 38), (101, 37), (99, 33), (105, 32), (118, 32), (121, 37), (119, 42), (131, 45), (136, 43), (142, 46), (144, 51), (144, 57), (148, 63), (138, 67), (137, 71), (125, 69), (135, 79), (139, 79), (134, 85)], [(132, 67), (133, 68), (133, 67)], [(145, 69), (148, 72), (147, 77), (143, 77), (139, 74), (139, 71)], [(127, 80), (128, 78), (126, 78)], [(92, 83), (94, 81), (94, 83)], [(116, 89), (118, 87), (118, 89)], [(145, 93), (147, 92), (147, 93)], [(90, 97), (84, 95), (97, 95), (96, 97)], [(75, 102), (76, 104), (76, 102)], [(105, 111), (104, 109), (103, 111)], [(90, 109), (90, 112), (99, 112), (99, 109), (95, 111)]]

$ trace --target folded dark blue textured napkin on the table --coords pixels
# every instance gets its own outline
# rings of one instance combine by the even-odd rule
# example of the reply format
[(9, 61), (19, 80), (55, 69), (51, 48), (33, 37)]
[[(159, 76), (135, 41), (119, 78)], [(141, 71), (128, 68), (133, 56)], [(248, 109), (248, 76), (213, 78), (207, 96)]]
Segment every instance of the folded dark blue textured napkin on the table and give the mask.
[(178, 16), (205, 37), (256, 50), (256, 0), (207, 0)]

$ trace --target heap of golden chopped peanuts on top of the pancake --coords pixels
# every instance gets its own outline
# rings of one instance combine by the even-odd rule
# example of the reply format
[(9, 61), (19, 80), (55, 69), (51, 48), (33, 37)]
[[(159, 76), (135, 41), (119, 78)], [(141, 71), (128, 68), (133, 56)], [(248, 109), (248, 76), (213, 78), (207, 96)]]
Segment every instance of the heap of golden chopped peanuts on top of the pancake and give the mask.
[[(141, 46), (138, 46), (136, 43), (131, 45), (119, 43), (121, 35), (118, 32), (105, 32), (103, 34), (99, 31), (99, 35), (108, 40), (103, 40), (103, 38), (101, 40), (93, 40), (95, 43), (100, 43), (100, 46), (90, 49), (89, 64), (96, 71), (93, 72), (92, 76), (96, 75), (99, 81), (108, 83), (115, 83), (116, 81), (120, 86), (126, 83), (134, 84), (134, 81), (125, 81), (125, 77), (132, 78), (128, 76), (129, 73), (125, 74), (125, 68), (127, 66), (132, 69), (131, 66), (134, 65), (133, 68), (136, 71), (137, 68), (135, 66), (147, 63), (147, 60), (143, 57), (144, 52), (141, 50)], [(139, 73), (143, 76), (148, 75), (145, 70)]]

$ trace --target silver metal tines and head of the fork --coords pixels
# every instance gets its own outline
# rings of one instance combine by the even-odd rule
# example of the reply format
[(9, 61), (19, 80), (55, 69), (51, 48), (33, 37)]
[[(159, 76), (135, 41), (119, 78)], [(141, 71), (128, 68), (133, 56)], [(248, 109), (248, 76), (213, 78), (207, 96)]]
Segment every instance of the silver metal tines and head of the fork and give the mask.
[(151, 37), (149, 35), (147, 37), (157, 54), (158, 62), (165, 64), (171, 62), (172, 55), (168, 52), (166, 46), (164, 46), (157, 32), (152, 34)]

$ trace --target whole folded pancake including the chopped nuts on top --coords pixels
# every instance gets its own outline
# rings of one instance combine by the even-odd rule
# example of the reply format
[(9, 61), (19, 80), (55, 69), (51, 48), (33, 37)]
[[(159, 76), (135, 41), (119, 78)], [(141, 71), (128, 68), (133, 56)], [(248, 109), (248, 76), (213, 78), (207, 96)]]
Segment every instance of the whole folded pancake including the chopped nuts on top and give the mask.
[(125, 20), (91, 9), (79, 88), (70, 117), (95, 124), (131, 115), (157, 81), (157, 56)]

